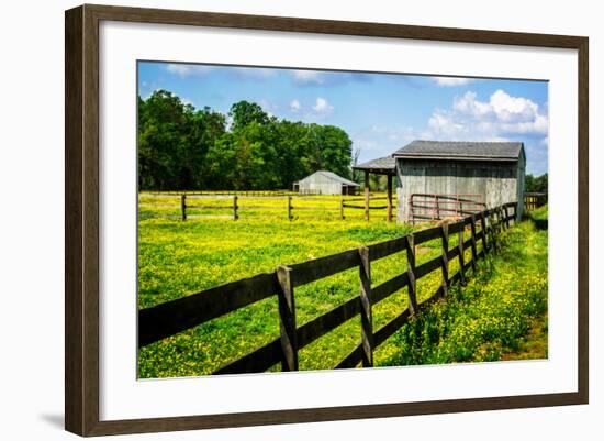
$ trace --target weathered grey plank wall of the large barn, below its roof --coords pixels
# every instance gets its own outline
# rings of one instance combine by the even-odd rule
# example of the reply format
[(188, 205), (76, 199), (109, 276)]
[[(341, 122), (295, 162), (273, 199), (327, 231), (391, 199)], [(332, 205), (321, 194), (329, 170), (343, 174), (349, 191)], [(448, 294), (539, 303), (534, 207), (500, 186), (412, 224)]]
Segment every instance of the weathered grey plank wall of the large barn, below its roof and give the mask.
[(396, 161), (399, 221), (409, 218), (409, 199), (412, 194), (482, 195), (489, 208), (523, 200), (523, 158), (518, 163)]

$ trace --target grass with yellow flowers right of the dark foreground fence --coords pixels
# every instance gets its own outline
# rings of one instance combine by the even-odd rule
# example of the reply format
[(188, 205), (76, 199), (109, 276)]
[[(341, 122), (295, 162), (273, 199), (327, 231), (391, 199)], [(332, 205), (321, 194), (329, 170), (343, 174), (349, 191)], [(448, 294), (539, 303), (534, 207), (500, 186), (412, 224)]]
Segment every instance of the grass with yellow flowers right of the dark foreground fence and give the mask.
[[(547, 220), (547, 207), (533, 216)], [(547, 231), (529, 219), (503, 241), (466, 286), (393, 335), (396, 352), (383, 365), (547, 359)]]

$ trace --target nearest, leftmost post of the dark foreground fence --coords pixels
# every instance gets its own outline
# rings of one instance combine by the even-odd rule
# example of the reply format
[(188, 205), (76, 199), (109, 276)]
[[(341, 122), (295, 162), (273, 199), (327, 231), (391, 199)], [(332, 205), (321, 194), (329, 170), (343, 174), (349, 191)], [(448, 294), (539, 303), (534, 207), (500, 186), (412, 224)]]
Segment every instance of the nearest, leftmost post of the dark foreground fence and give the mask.
[(279, 280), (279, 330), (281, 332), (281, 349), (283, 360), (281, 370), (298, 371), (298, 337), (295, 334), (295, 302), (293, 297), (293, 285), (291, 284), (291, 268), (287, 266), (277, 267), (277, 279)]

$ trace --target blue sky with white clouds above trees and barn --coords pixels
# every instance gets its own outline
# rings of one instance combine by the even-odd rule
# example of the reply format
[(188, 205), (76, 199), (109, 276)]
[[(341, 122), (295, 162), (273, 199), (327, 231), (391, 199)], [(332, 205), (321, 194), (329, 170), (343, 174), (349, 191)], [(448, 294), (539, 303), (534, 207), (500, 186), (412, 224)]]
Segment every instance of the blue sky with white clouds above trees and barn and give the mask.
[(413, 140), (522, 141), (527, 173), (548, 168), (547, 81), (138, 63), (138, 90), (166, 89), (227, 113), (254, 101), (292, 121), (344, 129), (359, 161)]

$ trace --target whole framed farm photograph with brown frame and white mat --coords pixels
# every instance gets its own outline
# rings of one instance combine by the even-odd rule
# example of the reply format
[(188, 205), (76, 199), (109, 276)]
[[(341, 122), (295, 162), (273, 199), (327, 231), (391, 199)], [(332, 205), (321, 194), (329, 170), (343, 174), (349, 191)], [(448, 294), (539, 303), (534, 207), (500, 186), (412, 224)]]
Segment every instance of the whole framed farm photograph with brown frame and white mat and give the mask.
[(67, 430), (588, 403), (586, 37), (65, 20)]

